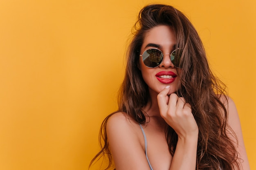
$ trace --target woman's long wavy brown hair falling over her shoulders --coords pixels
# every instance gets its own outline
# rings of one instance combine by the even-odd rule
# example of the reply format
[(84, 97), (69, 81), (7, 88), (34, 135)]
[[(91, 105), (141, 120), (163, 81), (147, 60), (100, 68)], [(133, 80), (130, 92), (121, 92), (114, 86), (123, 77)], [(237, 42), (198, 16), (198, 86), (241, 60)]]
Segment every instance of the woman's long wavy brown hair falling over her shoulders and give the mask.
[[(180, 88), (177, 94), (191, 104), (199, 128), (196, 170), (239, 169), (236, 146), (227, 135), (234, 132), (227, 124), (226, 86), (211, 72), (200, 37), (189, 19), (172, 6), (152, 4), (140, 11), (127, 52), (127, 66), (119, 91), (117, 112), (128, 114), (138, 124), (147, 123), (143, 107), (150, 101), (150, 96), (137, 65), (145, 34), (159, 25), (171, 26), (176, 35), (176, 48), (183, 49), (182, 70), (179, 73)], [(101, 125), (101, 151), (92, 159), (90, 166), (102, 156), (108, 159), (106, 169), (113, 165), (106, 135), (106, 124), (111, 115)], [(235, 135), (234, 139), (237, 139)], [(171, 126), (166, 129), (166, 141), (173, 156), (177, 134)]]

